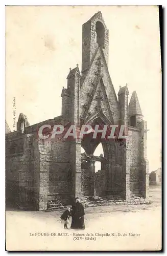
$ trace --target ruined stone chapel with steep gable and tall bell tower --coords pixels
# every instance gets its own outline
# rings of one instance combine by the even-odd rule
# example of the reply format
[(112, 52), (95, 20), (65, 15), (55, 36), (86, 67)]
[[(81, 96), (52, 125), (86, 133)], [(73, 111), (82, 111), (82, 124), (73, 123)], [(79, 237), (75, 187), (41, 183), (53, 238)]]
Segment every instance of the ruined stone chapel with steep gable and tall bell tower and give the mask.
[[(109, 31), (101, 12), (83, 24), (82, 70), (70, 69), (62, 89), (62, 113), (54, 119), (30, 125), (20, 114), (17, 131), (6, 134), (6, 201), (28, 209), (43, 210), (47, 202), (60, 199), (68, 204), (79, 196), (132, 196), (148, 200), (147, 122), (143, 120), (136, 92), (128, 104), (128, 87), (118, 98), (108, 72)], [(40, 141), (43, 124), (124, 124), (124, 143), (91, 134), (83, 139)], [(94, 156), (102, 143), (104, 156)], [(81, 154), (81, 147), (85, 153)], [(101, 170), (94, 172), (94, 163)]]

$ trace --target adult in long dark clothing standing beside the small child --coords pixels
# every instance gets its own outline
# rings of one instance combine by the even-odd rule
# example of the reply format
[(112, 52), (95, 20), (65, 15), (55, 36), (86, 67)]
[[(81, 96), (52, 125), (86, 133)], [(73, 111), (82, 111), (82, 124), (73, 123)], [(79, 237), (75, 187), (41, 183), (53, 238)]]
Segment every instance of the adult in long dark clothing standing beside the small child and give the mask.
[(76, 207), (75, 207), (75, 227), (76, 229), (85, 229), (84, 223), (84, 207), (80, 203), (80, 199), (76, 198)]

